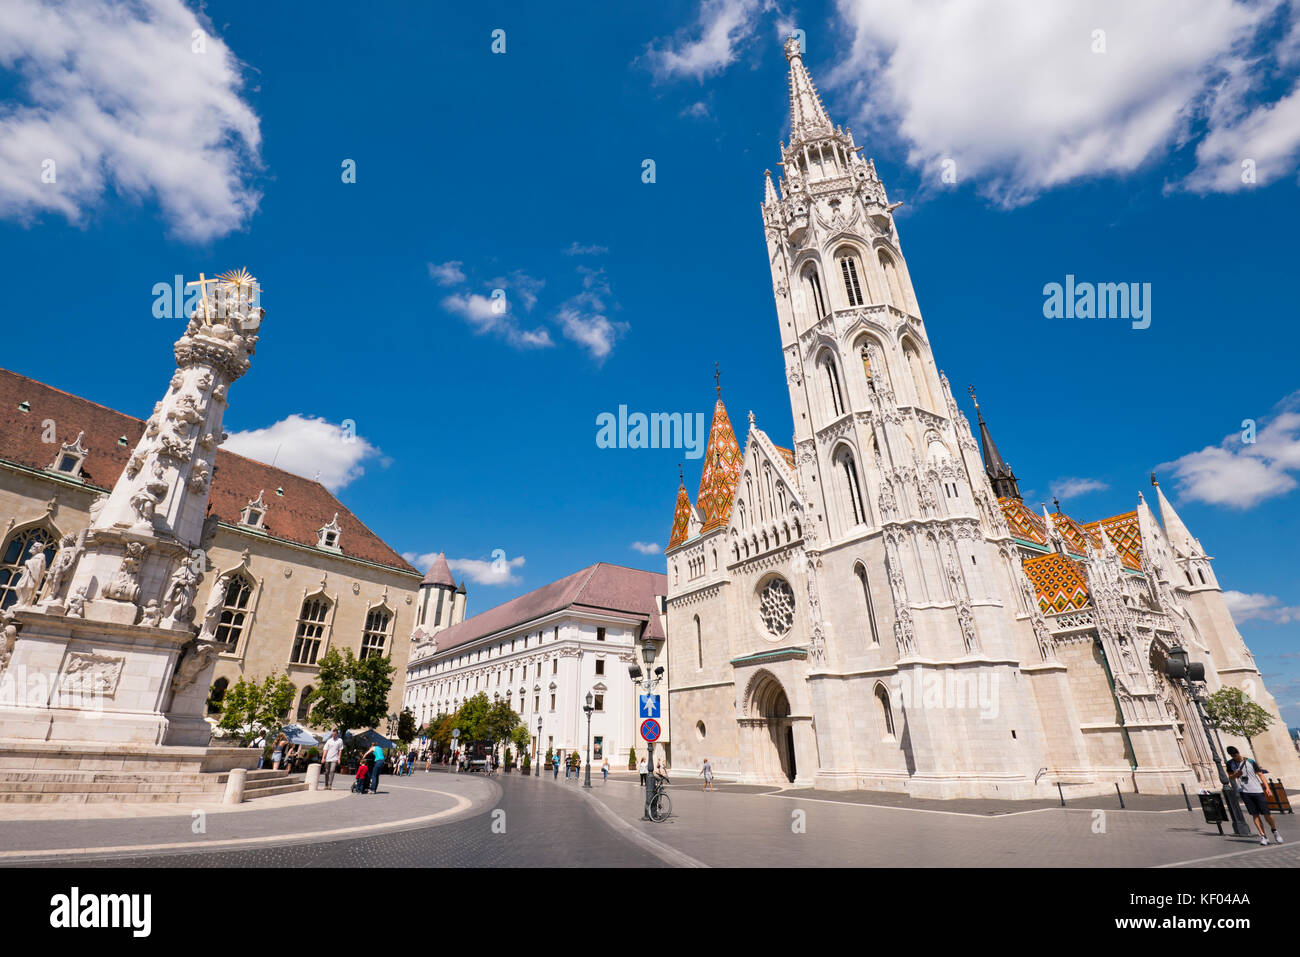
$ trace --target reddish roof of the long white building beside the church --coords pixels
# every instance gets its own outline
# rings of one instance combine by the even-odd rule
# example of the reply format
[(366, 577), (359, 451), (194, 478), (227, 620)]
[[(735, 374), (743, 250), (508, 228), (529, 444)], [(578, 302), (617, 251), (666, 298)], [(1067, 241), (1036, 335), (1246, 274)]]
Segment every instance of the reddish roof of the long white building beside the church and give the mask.
[(659, 594), (668, 594), (668, 576), (663, 572), (598, 562), (445, 628), (434, 636), (434, 641), (438, 654), (442, 654), (568, 607), (632, 614), (649, 620), (649, 637), (662, 638), (663, 628), (654, 602)]

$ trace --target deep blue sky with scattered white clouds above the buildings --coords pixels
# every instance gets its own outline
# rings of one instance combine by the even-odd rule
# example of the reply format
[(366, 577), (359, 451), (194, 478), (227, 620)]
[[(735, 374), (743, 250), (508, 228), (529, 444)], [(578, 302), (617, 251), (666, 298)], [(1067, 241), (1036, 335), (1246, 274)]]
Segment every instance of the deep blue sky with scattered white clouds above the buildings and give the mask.
[[(758, 205), (801, 29), (1026, 501), (1087, 521), (1158, 469), (1300, 724), (1296, 12), (971, 7), (13, 0), (0, 364), (147, 415), (179, 329), (155, 283), (247, 265), (268, 321), (231, 447), (446, 550), (471, 612), (594, 560), (662, 570), (634, 546), (666, 544), (684, 454), (599, 449), (595, 419), (707, 415), (716, 361), (737, 428), (788, 443)], [(1150, 326), (1045, 319), (1067, 274), (1152, 283)]]

